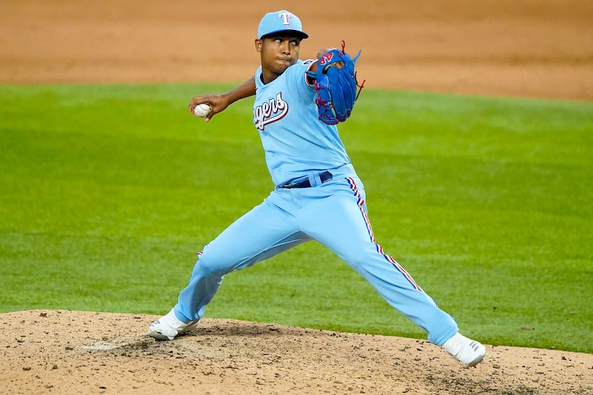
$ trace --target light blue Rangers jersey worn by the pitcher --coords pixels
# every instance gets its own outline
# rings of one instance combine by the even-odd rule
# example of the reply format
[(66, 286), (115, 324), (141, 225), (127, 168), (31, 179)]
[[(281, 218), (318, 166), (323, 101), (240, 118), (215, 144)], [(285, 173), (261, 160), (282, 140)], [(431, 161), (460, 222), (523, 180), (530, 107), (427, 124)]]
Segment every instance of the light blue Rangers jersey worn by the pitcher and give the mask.
[(261, 66), (255, 74), (253, 120), (276, 185), (350, 164), (337, 127), (318, 119), (316, 92), (305, 75), (313, 62), (299, 60), (269, 84), (261, 81)]

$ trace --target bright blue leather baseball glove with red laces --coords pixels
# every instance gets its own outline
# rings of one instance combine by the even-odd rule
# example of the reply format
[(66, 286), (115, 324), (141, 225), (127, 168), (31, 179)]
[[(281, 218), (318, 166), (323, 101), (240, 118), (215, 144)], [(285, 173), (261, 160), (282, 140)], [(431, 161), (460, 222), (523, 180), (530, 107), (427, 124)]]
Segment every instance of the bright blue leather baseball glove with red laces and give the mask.
[(315, 103), (319, 119), (328, 125), (335, 125), (349, 118), (364, 86), (364, 81), (358, 84), (357, 74), (354, 71), (360, 51), (352, 59), (344, 51), (344, 46), (345, 43), (342, 41), (342, 50), (333, 49), (322, 56), (317, 64), (317, 73), (309, 74), (315, 79), (314, 88), (317, 91)]

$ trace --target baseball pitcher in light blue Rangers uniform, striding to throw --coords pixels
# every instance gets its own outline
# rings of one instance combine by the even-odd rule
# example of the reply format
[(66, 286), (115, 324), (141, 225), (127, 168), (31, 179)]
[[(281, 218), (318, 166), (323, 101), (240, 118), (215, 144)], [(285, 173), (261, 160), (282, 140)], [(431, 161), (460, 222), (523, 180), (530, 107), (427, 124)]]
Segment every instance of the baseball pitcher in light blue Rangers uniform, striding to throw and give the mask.
[[(289, 11), (266, 14), (255, 49), (261, 66), (227, 94), (196, 96), (189, 111), (207, 104), (206, 121), (234, 101), (255, 95), (254, 126), (275, 187), (264, 201), (204, 246), (173, 309), (154, 321), (149, 335), (173, 340), (194, 329), (225, 274), (315, 240), (367, 279), (395, 309), (459, 361), (474, 366), (486, 349), (459, 334), (404, 268), (378, 243), (367, 216), (364, 186), (339, 137), (337, 124), (353, 114), (363, 83), (355, 71), (360, 52), (319, 51), (299, 60), (307, 34)], [(355, 311), (352, 312), (355, 314)]]

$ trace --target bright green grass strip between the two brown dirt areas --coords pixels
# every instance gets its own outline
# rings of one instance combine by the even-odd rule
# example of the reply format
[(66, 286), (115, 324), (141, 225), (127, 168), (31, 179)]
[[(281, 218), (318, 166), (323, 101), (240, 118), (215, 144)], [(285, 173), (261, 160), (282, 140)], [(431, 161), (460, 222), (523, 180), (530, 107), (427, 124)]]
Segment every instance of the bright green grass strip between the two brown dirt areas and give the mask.
[[(249, 99), (187, 113), (231, 86), (0, 86), (0, 311), (168, 311), (272, 188)], [(340, 131), (378, 241), (464, 333), (593, 353), (592, 103), (365, 89)], [(314, 243), (206, 316), (425, 337)]]

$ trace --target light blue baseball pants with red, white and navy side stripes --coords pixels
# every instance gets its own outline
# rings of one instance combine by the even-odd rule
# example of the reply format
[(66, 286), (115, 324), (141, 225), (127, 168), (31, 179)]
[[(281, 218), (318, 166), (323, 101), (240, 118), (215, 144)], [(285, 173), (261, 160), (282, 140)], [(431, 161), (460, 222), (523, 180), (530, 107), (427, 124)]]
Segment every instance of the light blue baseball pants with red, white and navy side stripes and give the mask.
[(367, 279), (391, 306), (427, 331), (430, 342), (441, 345), (453, 336), (458, 329), (452, 316), (439, 309), (375, 241), (364, 187), (352, 165), (330, 171), (333, 179), (325, 184), (312, 173), (312, 187), (274, 189), (263, 203), (207, 244), (188, 286), (179, 294), (176, 316), (181, 321), (201, 319), (224, 274), (317, 240)]

